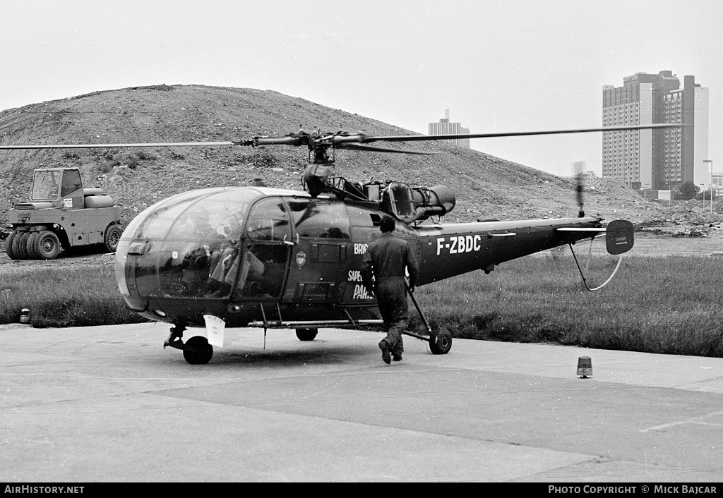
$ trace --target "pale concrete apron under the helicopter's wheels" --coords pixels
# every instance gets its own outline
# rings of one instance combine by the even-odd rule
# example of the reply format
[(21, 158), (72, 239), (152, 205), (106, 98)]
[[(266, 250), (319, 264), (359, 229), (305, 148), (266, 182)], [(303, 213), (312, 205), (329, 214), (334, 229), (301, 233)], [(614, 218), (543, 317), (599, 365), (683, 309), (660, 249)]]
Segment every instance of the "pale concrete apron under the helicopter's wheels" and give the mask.
[(231, 329), (189, 365), (162, 324), (0, 334), (2, 481), (723, 476), (723, 359), (406, 337), (386, 365), (375, 332)]

